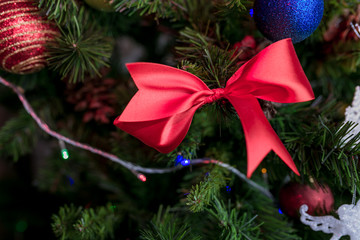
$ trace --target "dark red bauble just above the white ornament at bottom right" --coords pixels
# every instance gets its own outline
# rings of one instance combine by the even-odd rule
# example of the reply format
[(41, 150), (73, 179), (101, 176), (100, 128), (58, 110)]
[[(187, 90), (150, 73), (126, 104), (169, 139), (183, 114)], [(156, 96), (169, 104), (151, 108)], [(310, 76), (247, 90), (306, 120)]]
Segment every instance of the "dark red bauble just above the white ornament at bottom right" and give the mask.
[(280, 190), (281, 210), (290, 217), (298, 217), (301, 205), (309, 207), (308, 214), (326, 215), (334, 205), (334, 196), (327, 185), (313, 187), (300, 183), (290, 182)]

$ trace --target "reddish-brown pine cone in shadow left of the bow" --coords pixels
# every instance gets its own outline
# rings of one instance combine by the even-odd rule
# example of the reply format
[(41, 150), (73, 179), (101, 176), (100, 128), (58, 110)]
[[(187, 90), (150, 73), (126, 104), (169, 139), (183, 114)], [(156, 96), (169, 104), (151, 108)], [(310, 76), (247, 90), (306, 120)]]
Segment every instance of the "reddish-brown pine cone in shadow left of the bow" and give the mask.
[(112, 92), (116, 81), (112, 78), (86, 79), (84, 83), (68, 85), (67, 101), (74, 104), (74, 110), (83, 112), (83, 122), (95, 120), (110, 123), (115, 115), (116, 95)]

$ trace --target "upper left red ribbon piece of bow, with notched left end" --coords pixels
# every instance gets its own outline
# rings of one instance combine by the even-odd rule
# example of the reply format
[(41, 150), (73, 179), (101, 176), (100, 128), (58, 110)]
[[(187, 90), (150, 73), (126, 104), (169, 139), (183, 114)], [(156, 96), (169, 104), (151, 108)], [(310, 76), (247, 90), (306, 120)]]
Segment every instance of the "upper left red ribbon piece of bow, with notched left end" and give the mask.
[(212, 91), (195, 75), (155, 63), (127, 64), (139, 91), (115, 122), (153, 121), (201, 105)]

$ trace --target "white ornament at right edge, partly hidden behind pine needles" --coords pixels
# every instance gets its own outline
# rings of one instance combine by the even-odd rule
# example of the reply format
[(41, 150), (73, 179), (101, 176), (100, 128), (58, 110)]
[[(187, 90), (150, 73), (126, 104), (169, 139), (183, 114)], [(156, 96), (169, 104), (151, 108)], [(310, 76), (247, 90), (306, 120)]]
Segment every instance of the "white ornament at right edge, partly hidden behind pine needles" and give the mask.
[(353, 127), (351, 131), (349, 131), (345, 135), (345, 137), (343, 138), (344, 139), (343, 144), (346, 144), (349, 140), (352, 139), (353, 136), (355, 136), (360, 132), (360, 86), (357, 86), (355, 88), (353, 102), (351, 103), (351, 106), (347, 107), (345, 110), (345, 123), (346, 122), (354, 122), (357, 123), (358, 125)]

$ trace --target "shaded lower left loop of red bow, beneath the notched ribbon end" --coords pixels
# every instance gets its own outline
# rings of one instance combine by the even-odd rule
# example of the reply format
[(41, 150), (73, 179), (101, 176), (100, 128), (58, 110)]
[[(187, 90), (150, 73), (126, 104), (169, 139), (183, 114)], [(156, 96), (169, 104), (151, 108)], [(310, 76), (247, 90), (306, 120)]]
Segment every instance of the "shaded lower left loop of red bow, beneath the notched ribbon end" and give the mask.
[(197, 108), (194, 106), (185, 112), (149, 121), (122, 121), (118, 117), (114, 125), (159, 152), (169, 153), (185, 138)]

